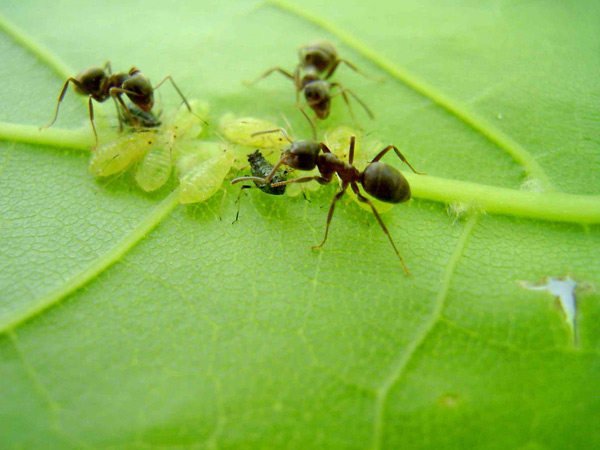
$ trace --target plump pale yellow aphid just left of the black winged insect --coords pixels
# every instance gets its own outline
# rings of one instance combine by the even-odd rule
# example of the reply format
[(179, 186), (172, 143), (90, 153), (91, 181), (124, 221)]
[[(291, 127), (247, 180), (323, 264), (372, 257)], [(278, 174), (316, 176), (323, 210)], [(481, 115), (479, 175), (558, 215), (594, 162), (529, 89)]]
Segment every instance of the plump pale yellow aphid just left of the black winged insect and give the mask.
[(179, 179), (179, 201), (196, 203), (208, 200), (219, 190), (232, 164), (233, 155), (221, 152), (192, 167)]

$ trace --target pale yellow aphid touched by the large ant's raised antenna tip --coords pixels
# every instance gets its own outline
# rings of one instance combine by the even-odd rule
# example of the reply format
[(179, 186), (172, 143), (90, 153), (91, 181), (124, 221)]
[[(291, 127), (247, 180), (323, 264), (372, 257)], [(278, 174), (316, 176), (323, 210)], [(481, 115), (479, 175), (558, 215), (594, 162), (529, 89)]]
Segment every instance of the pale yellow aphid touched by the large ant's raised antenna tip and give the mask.
[(234, 144), (259, 149), (281, 149), (289, 145), (281, 133), (268, 133), (252, 136), (259, 131), (279, 128), (272, 122), (255, 117), (239, 117), (225, 114), (219, 120), (219, 128), (223, 137)]

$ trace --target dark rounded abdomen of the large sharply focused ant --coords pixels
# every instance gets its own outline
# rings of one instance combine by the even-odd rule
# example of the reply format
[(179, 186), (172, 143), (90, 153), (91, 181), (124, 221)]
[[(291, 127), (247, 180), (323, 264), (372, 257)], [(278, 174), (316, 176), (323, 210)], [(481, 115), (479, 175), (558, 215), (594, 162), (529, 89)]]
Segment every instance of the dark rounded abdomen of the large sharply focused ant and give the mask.
[(382, 202), (402, 203), (410, 199), (408, 181), (396, 168), (388, 164), (369, 164), (361, 174), (360, 182), (368, 194)]

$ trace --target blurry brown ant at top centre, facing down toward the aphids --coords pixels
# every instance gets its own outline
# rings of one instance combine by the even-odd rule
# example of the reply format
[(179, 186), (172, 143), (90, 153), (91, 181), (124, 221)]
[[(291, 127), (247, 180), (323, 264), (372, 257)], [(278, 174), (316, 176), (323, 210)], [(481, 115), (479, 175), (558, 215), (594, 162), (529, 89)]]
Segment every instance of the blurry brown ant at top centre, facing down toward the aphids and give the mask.
[[(246, 84), (255, 84), (273, 72), (279, 72), (294, 82), (294, 85), (296, 86), (296, 105), (298, 105), (299, 102), (300, 92), (303, 92), (306, 104), (315, 112), (319, 119), (326, 119), (329, 117), (331, 99), (340, 94), (348, 106), (348, 111), (350, 112), (352, 120), (359, 128), (360, 126), (356, 122), (347, 94), (354, 97), (354, 99), (365, 109), (371, 119), (374, 118), (371, 110), (352, 90), (345, 88), (338, 82), (331, 83), (327, 81), (333, 75), (340, 63), (345, 63), (348, 67), (361, 75), (371, 78), (349, 61), (339, 58), (337, 56), (337, 49), (332, 43), (327, 41), (313, 41), (308, 45), (301, 46), (299, 48), (299, 57), (300, 62), (296, 66), (293, 75), (281, 67), (272, 67), (256, 80)], [(301, 72), (303, 73), (301, 74)], [(331, 90), (333, 88), (337, 88), (339, 91), (332, 94)], [(314, 128), (312, 121), (311, 125)]]

